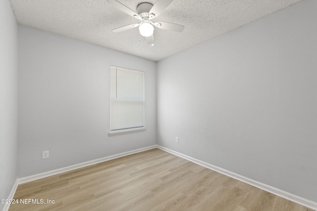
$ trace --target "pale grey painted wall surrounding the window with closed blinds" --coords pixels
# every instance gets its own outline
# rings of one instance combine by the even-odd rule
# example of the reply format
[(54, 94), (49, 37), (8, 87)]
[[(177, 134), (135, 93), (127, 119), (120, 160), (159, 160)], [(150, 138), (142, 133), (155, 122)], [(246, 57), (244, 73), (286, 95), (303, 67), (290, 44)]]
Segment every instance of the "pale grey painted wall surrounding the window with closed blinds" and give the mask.
[[(18, 177), (156, 144), (155, 62), (22, 25), (18, 44)], [(146, 131), (108, 136), (110, 65), (145, 72)]]

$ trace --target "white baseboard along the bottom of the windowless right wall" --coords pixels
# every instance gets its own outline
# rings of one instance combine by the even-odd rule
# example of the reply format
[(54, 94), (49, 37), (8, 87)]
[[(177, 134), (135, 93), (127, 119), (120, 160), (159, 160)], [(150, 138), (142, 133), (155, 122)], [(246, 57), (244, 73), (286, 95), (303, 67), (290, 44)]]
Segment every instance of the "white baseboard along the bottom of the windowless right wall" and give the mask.
[(313, 209), (313, 210), (317, 211), (317, 203), (316, 202), (310, 201), (310, 200), (302, 198), (300, 196), (296, 196), (296, 195), (294, 195), (292, 193), (288, 193), (288, 192), (280, 190), (278, 188), (266, 185), (266, 184), (264, 184), (262, 182), (255, 181), (253, 179), (247, 178), (247, 177), (239, 175), (237, 173), (228, 171), (226, 169), (222, 169), (222, 168), (213, 166), (213, 165), (211, 165), (209, 163), (206, 163), (204, 161), (200, 161), (198, 159), (195, 159), (195, 158), (189, 157), (187, 155), (178, 153), (178, 152), (170, 150), (168, 148), (165, 148), (165, 147), (162, 147), (162, 146), (159, 146), (159, 145), (157, 146), (157, 148), (159, 148), (161, 150), (164, 150), (164, 151), (166, 151), (168, 153), (171, 153), (173, 155), (176, 155), (178, 157), (184, 158), (184, 159), (186, 159), (188, 161), (191, 161), (191, 162), (193, 162), (195, 164), (201, 165), (201, 166), (206, 167), (208, 169), (211, 169), (211, 170), (217, 171), (219, 173), (222, 173), (224, 175), (230, 176), (230, 177), (232, 177), (234, 179), (237, 179), (239, 181), (245, 182), (245, 183), (247, 183), (249, 185), (252, 185), (254, 187), (260, 188), (260, 189), (262, 189), (264, 191), (267, 191), (269, 193), (272, 193), (274, 195), (277, 195), (279, 197), (282, 197), (284, 199), (287, 199), (289, 201), (295, 202), (297, 204), (303, 205), (305, 207), (308, 207), (310, 209)]

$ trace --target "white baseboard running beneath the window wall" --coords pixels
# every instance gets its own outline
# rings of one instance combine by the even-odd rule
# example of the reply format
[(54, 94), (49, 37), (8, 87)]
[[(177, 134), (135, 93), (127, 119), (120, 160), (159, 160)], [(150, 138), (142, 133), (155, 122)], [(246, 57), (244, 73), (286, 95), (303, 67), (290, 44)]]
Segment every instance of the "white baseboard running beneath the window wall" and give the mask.
[(92, 160), (92, 161), (88, 161), (88, 162), (84, 162), (84, 163), (80, 163), (80, 164), (75, 164), (75, 165), (64, 167), (64, 168), (60, 168), (60, 169), (54, 169), (54, 170), (51, 170), (51, 171), (47, 171), (47, 172), (43, 172), (43, 173), (34, 174), (34, 175), (31, 175), (31, 176), (18, 178), (17, 181), (18, 181), (18, 184), (22, 184), (22, 183), (25, 183), (25, 182), (30, 182), (30, 181), (34, 181), (34, 180), (37, 180), (37, 179), (42, 179), (44, 177), (53, 176), (55, 174), (63, 173), (63, 172), (70, 171), (70, 170), (80, 169), (80, 168), (87, 167), (87, 166), (90, 166), (90, 165), (102, 163), (102, 162), (105, 162), (105, 161), (113, 160), (113, 159), (124, 157), (124, 156), (127, 156), (127, 155), (132, 155), (132, 154), (135, 154), (135, 153), (138, 153), (138, 152), (143, 152), (143, 151), (146, 151), (146, 150), (149, 150), (149, 149), (154, 149), (154, 148), (157, 148), (157, 145), (144, 147), (144, 148), (140, 148), (140, 149), (135, 149), (135, 150), (131, 150), (131, 151), (128, 151), (128, 152), (123, 152), (123, 153), (119, 153), (119, 154), (115, 154), (115, 155), (110, 155), (110, 156), (107, 156), (107, 157), (104, 157), (104, 158), (99, 158), (99, 159), (96, 159), (96, 160)]

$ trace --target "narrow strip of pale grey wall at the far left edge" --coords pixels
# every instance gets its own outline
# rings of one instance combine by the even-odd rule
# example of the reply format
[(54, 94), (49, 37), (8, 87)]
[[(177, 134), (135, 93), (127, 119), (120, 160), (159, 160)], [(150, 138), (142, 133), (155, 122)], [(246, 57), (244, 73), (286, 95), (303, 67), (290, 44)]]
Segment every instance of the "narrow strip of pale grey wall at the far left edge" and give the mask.
[(7, 199), (16, 180), (18, 103), (17, 23), (8, 0), (0, 1), (0, 28), (0, 199)]

